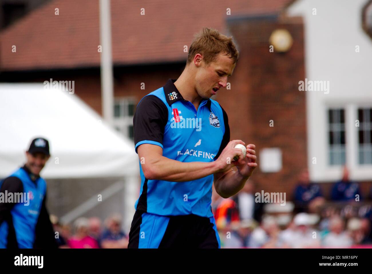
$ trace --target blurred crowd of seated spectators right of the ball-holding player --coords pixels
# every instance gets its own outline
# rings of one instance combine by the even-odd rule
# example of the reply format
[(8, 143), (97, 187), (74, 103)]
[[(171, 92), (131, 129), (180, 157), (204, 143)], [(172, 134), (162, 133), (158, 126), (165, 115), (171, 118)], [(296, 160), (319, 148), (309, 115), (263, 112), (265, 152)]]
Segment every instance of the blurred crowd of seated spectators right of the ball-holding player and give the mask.
[(267, 204), (255, 201), (254, 190), (251, 180), (228, 199), (213, 190), (212, 211), (223, 248), (372, 246), (372, 197), (361, 196), (359, 184), (349, 179), (346, 167), (328, 197), (303, 170), (292, 203), (286, 203), (289, 217), (285, 222), (283, 212), (266, 212)]

